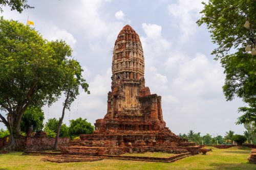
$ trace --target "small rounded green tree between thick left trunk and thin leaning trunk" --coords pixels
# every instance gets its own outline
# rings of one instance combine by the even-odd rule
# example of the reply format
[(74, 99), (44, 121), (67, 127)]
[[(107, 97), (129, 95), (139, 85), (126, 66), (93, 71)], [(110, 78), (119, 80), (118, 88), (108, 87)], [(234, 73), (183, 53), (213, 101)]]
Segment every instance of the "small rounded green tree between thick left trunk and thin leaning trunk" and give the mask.
[(40, 131), (44, 128), (44, 119), (44, 112), (41, 108), (30, 106), (22, 116), (20, 130), (27, 134), (30, 128), (33, 129), (33, 132)]

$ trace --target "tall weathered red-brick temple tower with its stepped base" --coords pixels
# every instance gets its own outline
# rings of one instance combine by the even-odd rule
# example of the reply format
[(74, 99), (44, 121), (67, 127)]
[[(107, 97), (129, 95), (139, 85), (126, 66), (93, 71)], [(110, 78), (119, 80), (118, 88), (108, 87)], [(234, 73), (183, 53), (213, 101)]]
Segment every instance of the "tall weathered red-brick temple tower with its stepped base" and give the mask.
[(62, 147), (63, 154), (199, 153), (199, 146), (165, 126), (161, 96), (145, 87), (144, 66), (139, 35), (126, 25), (115, 42), (107, 113), (96, 120), (93, 134)]

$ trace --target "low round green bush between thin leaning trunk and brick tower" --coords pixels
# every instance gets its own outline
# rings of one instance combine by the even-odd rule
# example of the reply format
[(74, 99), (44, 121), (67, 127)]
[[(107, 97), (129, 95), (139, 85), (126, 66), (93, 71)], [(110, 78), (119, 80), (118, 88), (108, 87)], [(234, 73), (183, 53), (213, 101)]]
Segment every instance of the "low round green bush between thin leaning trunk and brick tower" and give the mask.
[(70, 120), (69, 135), (72, 139), (81, 134), (92, 134), (93, 131), (94, 127), (87, 122), (87, 119), (79, 117), (75, 120)]

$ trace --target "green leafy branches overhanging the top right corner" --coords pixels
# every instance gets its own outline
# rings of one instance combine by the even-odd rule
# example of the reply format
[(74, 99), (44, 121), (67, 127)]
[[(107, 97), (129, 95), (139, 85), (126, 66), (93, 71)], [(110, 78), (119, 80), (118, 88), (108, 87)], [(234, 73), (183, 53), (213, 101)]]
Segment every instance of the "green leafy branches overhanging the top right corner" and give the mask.
[[(218, 45), (212, 55), (220, 59), (228, 54), (230, 48), (237, 48), (248, 41), (249, 30), (244, 28), (246, 15), (250, 23), (256, 26), (256, 3), (253, 1), (209, 0), (202, 3), (204, 9), (198, 25), (206, 25), (211, 34), (212, 42)], [(255, 29), (255, 28), (254, 28)], [(254, 32), (254, 38), (255, 38)]]

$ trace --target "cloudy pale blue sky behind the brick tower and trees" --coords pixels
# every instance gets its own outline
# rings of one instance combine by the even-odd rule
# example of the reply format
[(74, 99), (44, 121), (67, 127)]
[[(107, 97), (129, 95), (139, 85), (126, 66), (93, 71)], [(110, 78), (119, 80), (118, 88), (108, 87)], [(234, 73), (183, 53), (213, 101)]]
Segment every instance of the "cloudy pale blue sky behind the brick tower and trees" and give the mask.
[[(44, 38), (62, 39), (72, 47), (91, 94), (80, 92), (71, 110), (66, 111), (63, 122), (67, 125), (78, 117), (94, 124), (106, 114), (114, 43), (129, 24), (142, 43), (145, 85), (152, 94), (162, 96), (163, 118), (170, 130), (176, 134), (194, 130), (212, 136), (224, 136), (229, 130), (243, 134), (244, 127), (235, 123), (241, 115), (238, 107), (244, 103), (225, 100), (223, 68), (210, 55), (216, 45), (206, 27), (196, 24), (203, 8), (201, 1), (29, 0), (34, 9), (19, 14), (4, 7), (0, 16), (24, 24), (29, 17)], [(45, 122), (61, 116), (63, 101), (62, 96), (51, 107), (43, 108)], [(3, 123), (0, 128), (4, 128)]]

